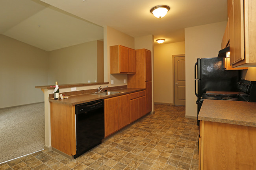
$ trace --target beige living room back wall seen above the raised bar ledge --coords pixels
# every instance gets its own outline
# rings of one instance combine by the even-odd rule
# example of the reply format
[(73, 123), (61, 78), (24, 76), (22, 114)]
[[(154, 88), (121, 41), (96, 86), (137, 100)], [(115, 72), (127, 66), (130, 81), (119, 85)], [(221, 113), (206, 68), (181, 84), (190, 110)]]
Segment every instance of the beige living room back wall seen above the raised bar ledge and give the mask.
[(97, 80), (97, 41), (49, 52), (48, 84), (74, 84)]

